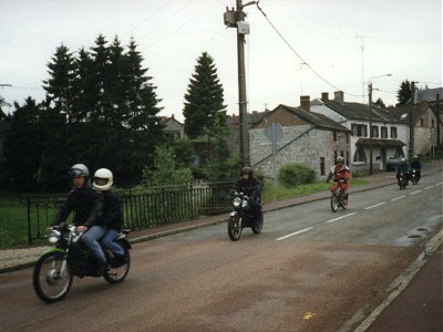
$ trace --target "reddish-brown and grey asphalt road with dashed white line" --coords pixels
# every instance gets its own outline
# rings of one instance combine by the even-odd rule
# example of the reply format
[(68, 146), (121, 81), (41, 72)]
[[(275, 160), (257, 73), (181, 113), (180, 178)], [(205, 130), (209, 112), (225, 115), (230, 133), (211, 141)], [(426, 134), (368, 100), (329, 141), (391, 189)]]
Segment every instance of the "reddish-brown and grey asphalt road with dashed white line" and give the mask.
[(41, 302), (32, 269), (0, 276), (1, 331), (352, 331), (443, 225), (441, 174), (400, 190), (266, 214), (262, 234), (226, 224), (136, 243), (122, 284), (74, 279)]

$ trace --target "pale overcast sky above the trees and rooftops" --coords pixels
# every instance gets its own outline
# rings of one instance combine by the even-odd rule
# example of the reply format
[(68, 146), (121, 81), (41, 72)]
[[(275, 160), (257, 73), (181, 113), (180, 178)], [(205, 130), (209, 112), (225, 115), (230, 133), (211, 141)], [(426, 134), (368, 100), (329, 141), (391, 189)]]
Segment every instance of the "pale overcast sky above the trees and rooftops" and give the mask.
[[(244, 0), (248, 2), (248, 0)], [(223, 14), (235, 0), (0, 0), (0, 95), (8, 103), (43, 100), (48, 62), (63, 43), (72, 52), (102, 33), (138, 44), (163, 101), (161, 115), (183, 121), (183, 102), (196, 60), (208, 52), (238, 113), (236, 29)], [(442, 86), (441, 0), (261, 0), (245, 8), (248, 112), (299, 106), (300, 95), (344, 91), (344, 100), (396, 102), (404, 80)], [(289, 45), (290, 46), (289, 46)], [(363, 46), (363, 52), (362, 52)], [(301, 56), (302, 60), (300, 60)], [(302, 65), (302, 62), (309, 64)], [(317, 72), (315, 74), (310, 69)], [(322, 79), (320, 79), (321, 76)]]

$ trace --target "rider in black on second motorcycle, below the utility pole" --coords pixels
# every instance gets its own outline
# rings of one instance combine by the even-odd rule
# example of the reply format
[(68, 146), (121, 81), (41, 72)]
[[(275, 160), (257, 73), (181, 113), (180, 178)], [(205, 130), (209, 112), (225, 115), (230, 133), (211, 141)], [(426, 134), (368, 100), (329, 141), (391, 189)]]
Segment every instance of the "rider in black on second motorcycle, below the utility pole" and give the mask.
[(250, 207), (254, 215), (259, 216), (260, 204), (261, 204), (261, 183), (254, 176), (251, 167), (241, 168), (241, 177), (234, 185), (234, 190), (237, 193), (244, 193), (249, 197)]

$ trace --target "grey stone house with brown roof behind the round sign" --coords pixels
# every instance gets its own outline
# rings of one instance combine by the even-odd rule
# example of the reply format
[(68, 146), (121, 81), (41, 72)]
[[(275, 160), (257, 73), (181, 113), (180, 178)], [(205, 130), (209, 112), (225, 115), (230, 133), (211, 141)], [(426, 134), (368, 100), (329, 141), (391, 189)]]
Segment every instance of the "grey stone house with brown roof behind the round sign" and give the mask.
[[(277, 169), (289, 163), (305, 164), (318, 177), (323, 177), (337, 156), (350, 157), (350, 131), (322, 114), (310, 112), (309, 96), (300, 98), (301, 107), (280, 104), (249, 128), (250, 164), (266, 177), (274, 178)], [(276, 144), (276, 154), (266, 136), (266, 128), (270, 124), (279, 124), (284, 133), (281, 141)]]

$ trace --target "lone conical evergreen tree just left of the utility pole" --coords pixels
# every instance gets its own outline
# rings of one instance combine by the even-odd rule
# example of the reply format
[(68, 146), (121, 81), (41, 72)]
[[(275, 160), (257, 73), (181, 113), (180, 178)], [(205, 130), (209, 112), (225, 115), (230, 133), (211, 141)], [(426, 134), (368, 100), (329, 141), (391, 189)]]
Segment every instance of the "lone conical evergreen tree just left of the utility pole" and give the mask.
[(203, 136), (214, 124), (226, 124), (224, 90), (213, 58), (204, 52), (195, 66), (185, 94), (185, 133), (190, 138)]

